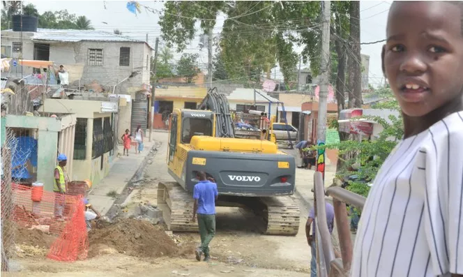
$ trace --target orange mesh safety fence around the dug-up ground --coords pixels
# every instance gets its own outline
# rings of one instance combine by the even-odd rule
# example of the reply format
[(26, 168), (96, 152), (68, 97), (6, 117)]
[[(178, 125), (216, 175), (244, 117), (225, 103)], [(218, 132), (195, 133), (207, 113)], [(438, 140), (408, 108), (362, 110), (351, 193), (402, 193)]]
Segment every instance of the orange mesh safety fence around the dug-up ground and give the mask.
[(84, 260), (89, 248), (83, 195), (44, 191), (43, 186), (12, 184), (13, 220), (28, 229), (56, 235), (47, 257), (62, 262)]

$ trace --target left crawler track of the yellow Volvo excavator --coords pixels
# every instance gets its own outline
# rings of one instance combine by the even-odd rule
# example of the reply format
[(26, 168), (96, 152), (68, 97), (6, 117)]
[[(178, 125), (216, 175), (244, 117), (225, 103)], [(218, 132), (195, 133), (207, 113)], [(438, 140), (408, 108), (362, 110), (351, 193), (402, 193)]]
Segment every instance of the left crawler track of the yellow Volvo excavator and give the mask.
[(158, 207), (167, 229), (178, 232), (198, 232), (197, 221), (192, 222), (193, 197), (183, 190), (179, 183), (160, 182), (158, 184)]

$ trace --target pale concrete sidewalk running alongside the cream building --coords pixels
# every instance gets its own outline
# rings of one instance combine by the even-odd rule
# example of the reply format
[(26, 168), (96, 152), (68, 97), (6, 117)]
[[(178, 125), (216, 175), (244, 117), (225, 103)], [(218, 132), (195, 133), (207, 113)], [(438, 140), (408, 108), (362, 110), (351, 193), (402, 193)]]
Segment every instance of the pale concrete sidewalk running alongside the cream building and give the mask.
[[(89, 202), (96, 208), (100, 214), (105, 215), (112, 207), (115, 199), (107, 196), (112, 190), (115, 190), (119, 195), (126, 187), (127, 183), (134, 177), (139, 167), (142, 167), (144, 160), (149, 155), (151, 149), (155, 146), (155, 140), (144, 142), (144, 149), (141, 154), (135, 154), (133, 147), (130, 148), (129, 156), (121, 156), (114, 161), (114, 164), (109, 169), (107, 177), (103, 178), (95, 188), (89, 193)], [(119, 152), (122, 154), (122, 147), (119, 147)]]

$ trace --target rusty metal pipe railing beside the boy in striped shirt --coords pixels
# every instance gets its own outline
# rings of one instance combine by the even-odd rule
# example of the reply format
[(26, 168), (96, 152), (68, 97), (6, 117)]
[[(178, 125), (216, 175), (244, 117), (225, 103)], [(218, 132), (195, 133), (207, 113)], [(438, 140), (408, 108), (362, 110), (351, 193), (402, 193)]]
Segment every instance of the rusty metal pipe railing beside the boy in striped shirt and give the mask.
[[(336, 258), (331, 242), (331, 234), (326, 222), (325, 195), (333, 197), (337, 235), (340, 242), (342, 258)], [(347, 277), (352, 262), (352, 239), (347, 217), (346, 203), (357, 209), (363, 209), (365, 197), (349, 190), (333, 186), (326, 189), (321, 172), (314, 173), (314, 209), (317, 248), (317, 276)]]

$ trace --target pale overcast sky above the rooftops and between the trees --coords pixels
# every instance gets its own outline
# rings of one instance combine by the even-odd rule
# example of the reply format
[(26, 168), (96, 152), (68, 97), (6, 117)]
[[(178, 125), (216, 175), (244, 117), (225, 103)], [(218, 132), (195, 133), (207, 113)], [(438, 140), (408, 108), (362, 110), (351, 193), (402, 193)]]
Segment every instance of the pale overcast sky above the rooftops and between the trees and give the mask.
[[(146, 33), (149, 36), (150, 45), (154, 46), (156, 37), (160, 37), (160, 27), (158, 25), (159, 13), (162, 10), (160, 1), (140, 1), (144, 6), (149, 6), (157, 10), (157, 13), (147, 13), (142, 8), (142, 13), (135, 16), (126, 8), (127, 1), (26, 1), (36, 5), (38, 12), (43, 13), (47, 10), (67, 9), (76, 15), (88, 17), (95, 29), (113, 31), (119, 29), (124, 36), (130, 36), (145, 40)], [(382, 40), (386, 36), (386, 19), (391, 1), (360, 1), (360, 41), (370, 43)], [(214, 28), (214, 33), (220, 33), (225, 17), (218, 20)], [(197, 33), (200, 34), (199, 32)], [(361, 53), (370, 56), (370, 84), (375, 87), (384, 82), (381, 73), (381, 43), (373, 45), (362, 45)], [(161, 43), (162, 46), (162, 43)], [(300, 51), (299, 49), (297, 49)], [(207, 49), (200, 50), (199, 36), (192, 41), (185, 52), (195, 52), (201, 54), (200, 63), (206, 68)], [(180, 54), (175, 54), (174, 59), (178, 60)], [(274, 72), (272, 73), (273, 76)], [(282, 78), (278, 68), (276, 69), (277, 78)]]

